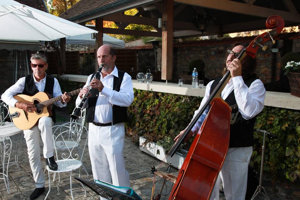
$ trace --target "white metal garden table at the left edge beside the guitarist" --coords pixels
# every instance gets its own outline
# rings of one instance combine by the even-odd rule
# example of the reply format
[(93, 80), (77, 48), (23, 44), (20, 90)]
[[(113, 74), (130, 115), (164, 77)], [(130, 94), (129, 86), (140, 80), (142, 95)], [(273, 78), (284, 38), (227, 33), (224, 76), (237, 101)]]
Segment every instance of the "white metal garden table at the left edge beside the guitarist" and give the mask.
[[(15, 155), (15, 161), (9, 163), (10, 155), (12, 153), (12, 140), (10, 136), (22, 133), (23, 131), (18, 129), (12, 122), (5, 122), (3, 126), (0, 126), (0, 150), (1, 150), (1, 165), (2, 165), (2, 173), (3, 177), (0, 179), (4, 179), (4, 183), (7, 189), (8, 194), (10, 194), (9, 190), (9, 181), (8, 181), (8, 167), (12, 164), (17, 164), (18, 168), (18, 159), (17, 155)], [(2, 147), (3, 145), (3, 147)], [(19, 147), (18, 147), (19, 148)], [(20, 168), (19, 168), (20, 169)]]

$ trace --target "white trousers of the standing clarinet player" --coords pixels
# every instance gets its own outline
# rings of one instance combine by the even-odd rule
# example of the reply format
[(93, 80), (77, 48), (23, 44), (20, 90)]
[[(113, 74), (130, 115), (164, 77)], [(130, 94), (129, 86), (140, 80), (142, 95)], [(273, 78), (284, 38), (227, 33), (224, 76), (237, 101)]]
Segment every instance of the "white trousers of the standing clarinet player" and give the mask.
[(88, 150), (95, 180), (130, 187), (123, 156), (124, 142), (124, 123), (103, 127), (89, 123)]

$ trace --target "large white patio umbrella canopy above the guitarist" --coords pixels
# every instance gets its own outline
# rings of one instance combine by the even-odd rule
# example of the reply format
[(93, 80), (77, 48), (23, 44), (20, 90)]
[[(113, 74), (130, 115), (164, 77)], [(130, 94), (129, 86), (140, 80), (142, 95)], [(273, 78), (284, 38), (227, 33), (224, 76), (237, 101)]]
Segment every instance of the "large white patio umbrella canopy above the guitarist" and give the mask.
[(47, 12), (13, 0), (0, 1), (0, 39), (43, 40), (97, 33)]

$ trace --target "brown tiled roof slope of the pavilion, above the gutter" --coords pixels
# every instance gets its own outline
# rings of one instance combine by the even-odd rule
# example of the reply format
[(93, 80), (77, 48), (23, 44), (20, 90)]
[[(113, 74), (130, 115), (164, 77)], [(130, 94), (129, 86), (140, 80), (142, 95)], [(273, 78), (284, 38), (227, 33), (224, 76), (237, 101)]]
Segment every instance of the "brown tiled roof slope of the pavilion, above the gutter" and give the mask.
[(67, 11), (63, 12), (59, 17), (64, 19), (70, 19), (72, 17), (78, 16), (80, 14), (90, 12), (97, 8), (109, 5), (120, 0), (81, 0), (72, 6)]

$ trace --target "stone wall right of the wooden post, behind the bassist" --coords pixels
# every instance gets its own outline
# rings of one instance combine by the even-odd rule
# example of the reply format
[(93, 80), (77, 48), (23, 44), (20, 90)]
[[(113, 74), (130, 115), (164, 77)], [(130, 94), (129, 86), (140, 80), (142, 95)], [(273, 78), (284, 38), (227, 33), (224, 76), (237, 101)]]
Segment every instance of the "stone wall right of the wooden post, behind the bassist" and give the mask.
[[(276, 47), (267, 42), (268, 48), (280, 48), (282, 41), (276, 43)], [(231, 45), (205, 45), (194, 47), (174, 47), (174, 73), (173, 80), (179, 77), (191, 80), (191, 75), (187, 72), (189, 61), (194, 59), (202, 59), (205, 64), (205, 78), (213, 80), (222, 76), (225, 59), (227, 58), (226, 50)], [(258, 50), (256, 56), (257, 70), (256, 74), (263, 83), (278, 81), (280, 78), (280, 53), (263, 52)]]

